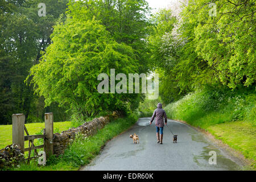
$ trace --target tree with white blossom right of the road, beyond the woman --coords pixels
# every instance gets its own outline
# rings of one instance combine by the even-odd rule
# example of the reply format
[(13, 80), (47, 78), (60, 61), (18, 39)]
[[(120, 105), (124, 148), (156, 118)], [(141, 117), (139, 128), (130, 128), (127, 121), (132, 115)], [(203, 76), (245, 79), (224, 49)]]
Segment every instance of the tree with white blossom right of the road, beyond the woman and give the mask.
[(151, 69), (159, 73), (159, 93), (163, 104), (168, 104), (178, 100), (181, 93), (180, 82), (175, 80), (177, 77), (175, 68), (179, 63), (178, 51), (181, 49), (181, 44), (172, 35), (177, 19), (172, 15), (171, 10), (163, 9), (152, 16), (151, 20), (155, 24), (148, 37)]

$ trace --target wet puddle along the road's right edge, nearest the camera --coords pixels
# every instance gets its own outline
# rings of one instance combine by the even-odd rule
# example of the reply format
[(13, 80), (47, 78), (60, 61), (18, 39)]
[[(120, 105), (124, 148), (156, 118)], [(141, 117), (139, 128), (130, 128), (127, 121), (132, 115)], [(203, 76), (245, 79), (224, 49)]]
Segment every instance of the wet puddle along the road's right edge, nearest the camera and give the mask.
[[(234, 170), (241, 170), (241, 167), (233, 162), (233, 160), (226, 158), (226, 156), (222, 155), (222, 152), (218, 150), (216, 146), (213, 144), (209, 144), (207, 140), (204, 138), (203, 135), (200, 134), (191, 134), (191, 138), (195, 142), (202, 142), (207, 144), (207, 146), (203, 147), (203, 151), (201, 151), (200, 155), (194, 155), (193, 156), (193, 161), (197, 163), (197, 165), (205, 168), (215, 168), (215, 169), (221, 169), (221, 170), (229, 170), (229, 171), (234, 171)], [(209, 164), (209, 158), (212, 155), (209, 155), (210, 151), (215, 151), (216, 152), (216, 163), (217, 164)]]

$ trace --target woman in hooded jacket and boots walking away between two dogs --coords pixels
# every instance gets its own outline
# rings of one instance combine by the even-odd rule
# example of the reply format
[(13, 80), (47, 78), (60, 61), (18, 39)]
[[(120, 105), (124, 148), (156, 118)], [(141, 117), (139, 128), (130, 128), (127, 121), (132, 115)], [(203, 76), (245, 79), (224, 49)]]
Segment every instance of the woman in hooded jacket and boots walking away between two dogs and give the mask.
[[(163, 121), (164, 118), (164, 121)], [(156, 127), (156, 138), (158, 140), (158, 143), (163, 144), (163, 127), (164, 123), (167, 125), (167, 117), (166, 117), (166, 111), (162, 109), (162, 104), (158, 103), (158, 108), (154, 111), (152, 118), (150, 120), (150, 125), (152, 124), (152, 121), (155, 119), (155, 127)], [(160, 131), (160, 137), (159, 137), (159, 131)]]

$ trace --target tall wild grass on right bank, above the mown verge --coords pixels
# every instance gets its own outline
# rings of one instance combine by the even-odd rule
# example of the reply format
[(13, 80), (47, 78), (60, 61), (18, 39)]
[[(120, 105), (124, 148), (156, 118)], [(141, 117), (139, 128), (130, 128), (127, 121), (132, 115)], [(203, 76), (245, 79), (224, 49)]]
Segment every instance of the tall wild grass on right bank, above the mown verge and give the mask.
[(164, 107), (167, 116), (206, 128), (210, 125), (246, 121), (256, 125), (254, 91), (204, 89), (189, 93)]

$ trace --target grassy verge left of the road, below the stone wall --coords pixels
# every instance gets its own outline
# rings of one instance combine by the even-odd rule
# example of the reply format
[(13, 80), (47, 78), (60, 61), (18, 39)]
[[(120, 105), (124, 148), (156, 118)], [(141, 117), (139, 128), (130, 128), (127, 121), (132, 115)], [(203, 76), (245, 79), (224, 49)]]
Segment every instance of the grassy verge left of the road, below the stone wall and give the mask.
[(81, 134), (76, 136), (76, 139), (65, 150), (64, 154), (56, 158), (54, 155), (47, 160), (46, 166), (38, 166), (34, 160), (27, 164), (20, 164), (19, 168), (11, 168), (8, 170), (77, 170), (81, 166), (89, 164), (90, 161), (99, 154), (101, 148), (113, 137), (129, 129), (138, 119), (135, 114), (129, 115), (126, 118), (119, 118), (103, 129), (99, 130), (96, 135), (84, 138)]

